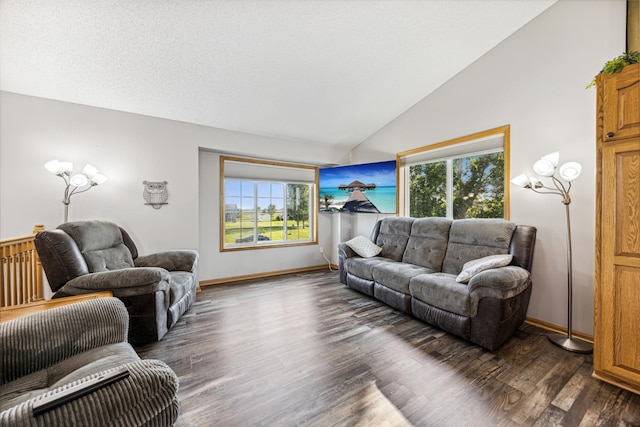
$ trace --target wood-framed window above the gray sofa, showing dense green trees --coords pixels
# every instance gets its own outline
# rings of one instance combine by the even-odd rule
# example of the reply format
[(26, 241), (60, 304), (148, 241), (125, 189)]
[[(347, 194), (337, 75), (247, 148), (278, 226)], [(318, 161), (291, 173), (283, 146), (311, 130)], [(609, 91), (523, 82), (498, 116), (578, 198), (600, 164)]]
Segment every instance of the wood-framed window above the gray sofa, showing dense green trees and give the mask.
[(398, 154), (412, 217), (508, 218), (509, 126)]

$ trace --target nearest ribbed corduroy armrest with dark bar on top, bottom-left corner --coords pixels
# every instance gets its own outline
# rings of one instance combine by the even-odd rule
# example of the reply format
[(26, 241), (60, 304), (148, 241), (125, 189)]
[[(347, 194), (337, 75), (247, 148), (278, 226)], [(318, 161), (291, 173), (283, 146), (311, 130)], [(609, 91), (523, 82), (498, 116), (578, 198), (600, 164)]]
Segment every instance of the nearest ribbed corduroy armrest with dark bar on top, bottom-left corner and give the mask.
[(55, 398), (69, 387), (82, 386), (105, 372), (95, 373), (1, 412), (0, 425), (172, 425), (178, 415), (178, 378), (173, 370), (159, 360), (122, 366), (129, 372), (126, 378), (33, 415), (34, 404), (42, 399)]

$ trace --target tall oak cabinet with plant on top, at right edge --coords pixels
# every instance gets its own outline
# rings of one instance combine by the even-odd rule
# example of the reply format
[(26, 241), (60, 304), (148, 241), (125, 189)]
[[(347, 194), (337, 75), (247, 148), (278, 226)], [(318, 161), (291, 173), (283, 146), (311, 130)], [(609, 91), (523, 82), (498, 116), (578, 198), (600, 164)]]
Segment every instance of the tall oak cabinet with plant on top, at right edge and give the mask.
[(593, 376), (640, 394), (640, 64), (597, 77)]

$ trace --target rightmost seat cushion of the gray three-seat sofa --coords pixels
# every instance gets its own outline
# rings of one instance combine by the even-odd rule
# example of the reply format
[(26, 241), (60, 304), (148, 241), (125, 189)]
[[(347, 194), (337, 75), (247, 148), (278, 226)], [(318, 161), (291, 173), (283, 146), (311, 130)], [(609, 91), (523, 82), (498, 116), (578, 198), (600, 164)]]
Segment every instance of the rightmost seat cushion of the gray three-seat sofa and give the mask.
[(472, 316), (469, 288), (447, 273), (421, 274), (409, 282), (411, 296), (434, 307), (461, 316)]

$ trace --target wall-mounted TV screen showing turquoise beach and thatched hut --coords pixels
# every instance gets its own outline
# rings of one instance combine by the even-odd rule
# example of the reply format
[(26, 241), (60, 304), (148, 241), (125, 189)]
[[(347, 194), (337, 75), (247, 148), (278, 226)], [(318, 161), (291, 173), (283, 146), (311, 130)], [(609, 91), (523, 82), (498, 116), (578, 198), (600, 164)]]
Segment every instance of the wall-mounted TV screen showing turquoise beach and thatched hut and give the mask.
[(396, 213), (396, 162), (321, 168), (320, 211)]

